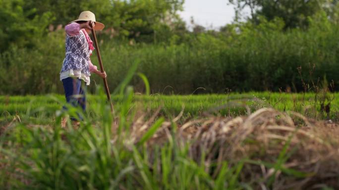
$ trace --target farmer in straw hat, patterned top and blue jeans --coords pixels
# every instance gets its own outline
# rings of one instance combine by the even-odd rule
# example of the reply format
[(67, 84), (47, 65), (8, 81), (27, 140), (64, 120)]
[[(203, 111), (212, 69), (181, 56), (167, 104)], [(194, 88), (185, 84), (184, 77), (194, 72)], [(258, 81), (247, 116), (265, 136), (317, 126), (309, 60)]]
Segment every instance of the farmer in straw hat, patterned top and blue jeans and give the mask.
[[(91, 11), (81, 12), (78, 19), (65, 26), (66, 55), (60, 71), (60, 81), (63, 83), (66, 101), (73, 106), (81, 106), (83, 111), (86, 109), (86, 98), (81, 81), (89, 85), (91, 73), (106, 78), (106, 72), (100, 72), (90, 59), (94, 47), (87, 31), (89, 32), (92, 27), (94, 30), (102, 30), (105, 25), (96, 22), (95, 15)], [(80, 123), (75, 118), (71, 120), (73, 126), (78, 126)], [(61, 126), (65, 127), (66, 122), (67, 118), (63, 118)]]

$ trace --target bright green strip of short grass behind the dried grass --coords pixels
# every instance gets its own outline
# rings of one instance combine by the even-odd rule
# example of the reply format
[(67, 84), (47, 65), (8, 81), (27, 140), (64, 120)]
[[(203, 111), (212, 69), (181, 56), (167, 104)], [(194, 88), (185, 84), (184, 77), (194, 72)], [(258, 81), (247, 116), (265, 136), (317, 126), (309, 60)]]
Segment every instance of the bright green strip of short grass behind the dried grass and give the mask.
[[(318, 95), (319, 96), (319, 95)], [(280, 111), (296, 111), (309, 117), (324, 118), (321, 114), (321, 99), (330, 104), (330, 118), (337, 119), (339, 94), (328, 94), (327, 98), (315, 94), (285, 94), (285, 93), (246, 93), (228, 95), (134, 95), (133, 106), (144, 110), (155, 111), (162, 107), (161, 112), (175, 116), (184, 111), (185, 117), (196, 117), (206, 114), (220, 114), (222, 116), (236, 116), (246, 114), (246, 107), (251, 111), (262, 107), (273, 107)], [(105, 95), (88, 95), (88, 105), (96, 105), (105, 100)], [(330, 99), (331, 98), (331, 99)], [(113, 105), (120, 107), (121, 95), (112, 97)], [(13, 115), (29, 115), (31, 117), (54, 118), (65, 102), (63, 95), (26, 95), (26, 96), (0, 96), (0, 118), (2, 120)], [(91, 114), (89, 106), (87, 114)]]

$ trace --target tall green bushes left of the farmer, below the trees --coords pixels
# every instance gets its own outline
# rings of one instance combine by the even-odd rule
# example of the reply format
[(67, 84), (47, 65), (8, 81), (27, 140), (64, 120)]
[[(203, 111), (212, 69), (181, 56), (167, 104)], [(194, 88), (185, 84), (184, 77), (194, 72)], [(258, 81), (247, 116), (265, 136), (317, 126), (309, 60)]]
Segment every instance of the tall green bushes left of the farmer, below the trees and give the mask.
[[(0, 59), (2, 92), (35, 94), (61, 91), (59, 67), (64, 56), (64, 33), (49, 33), (32, 40), (35, 48), (10, 47)], [(49, 43), (46, 43), (46, 42)]]

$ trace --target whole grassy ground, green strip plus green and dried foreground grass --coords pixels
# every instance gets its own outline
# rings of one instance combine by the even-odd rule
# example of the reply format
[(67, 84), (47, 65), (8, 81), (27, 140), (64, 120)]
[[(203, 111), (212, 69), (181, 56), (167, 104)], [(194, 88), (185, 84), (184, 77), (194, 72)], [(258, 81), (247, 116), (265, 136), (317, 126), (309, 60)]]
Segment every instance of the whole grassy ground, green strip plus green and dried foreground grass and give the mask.
[(0, 187), (338, 189), (338, 95), (0, 96)]

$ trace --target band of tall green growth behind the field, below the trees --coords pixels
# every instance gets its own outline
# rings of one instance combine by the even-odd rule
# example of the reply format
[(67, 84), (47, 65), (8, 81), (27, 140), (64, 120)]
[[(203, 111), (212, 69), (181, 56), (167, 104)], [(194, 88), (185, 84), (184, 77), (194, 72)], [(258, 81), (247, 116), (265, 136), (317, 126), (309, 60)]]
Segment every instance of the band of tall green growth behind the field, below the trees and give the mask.
[[(283, 31), (282, 19), (260, 19), (259, 25), (228, 25), (219, 34), (174, 35), (169, 44), (131, 45), (98, 35), (109, 87), (115, 89), (134, 68), (147, 77), (151, 94), (303, 92), (304, 83), (309, 86), (307, 91), (314, 91), (318, 79), (325, 75), (338, 90), (338, 25), (328, 20), (325, 12), (309, 19), (307, 31)], [(35, 39), (34, 49), (13, 47), (3, 53), (0, 94), (63, 93), (58, 74), (64, 57), (64, 35), (61, 30), (51, 32)], [(132, 67), (135, 60), (139, 64)], [(92, 62), (98, 65), (96, 55), (92, 55)], [(125, 86), (131, 84), (137, 92), (145, 92), (142, 78), (130, 78)], [(91, 79), (88, 90), (93, 93), (101, 79)]]

